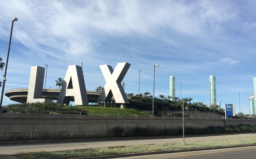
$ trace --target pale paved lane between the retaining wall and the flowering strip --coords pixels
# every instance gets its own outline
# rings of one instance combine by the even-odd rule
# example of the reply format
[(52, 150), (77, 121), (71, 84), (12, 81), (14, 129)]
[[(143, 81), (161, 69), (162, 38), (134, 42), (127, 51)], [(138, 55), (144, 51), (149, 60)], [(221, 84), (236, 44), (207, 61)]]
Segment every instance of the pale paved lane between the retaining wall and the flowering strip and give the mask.
[[(218, 135), (218, 136), (193, 136), (193, 137), (185, 136), (185, 142), (227, 140), (227, 139), (246, 138), (246, 137), (256, 137), (256, 133)], [(86, 148), (145, 145), (145, 144), (156, 144), (156, 143), (177, 143), (177, 142), (183, 142), (183, 138), (127, 139), (127, 140), (0, 145), (0, 156), (13, 155), (16, 153), (20, 153), (22, 151), (36, 151), (36, 150), (37, 151), (38, 150), (61, 151), (61, 150), (86, 149)]]

